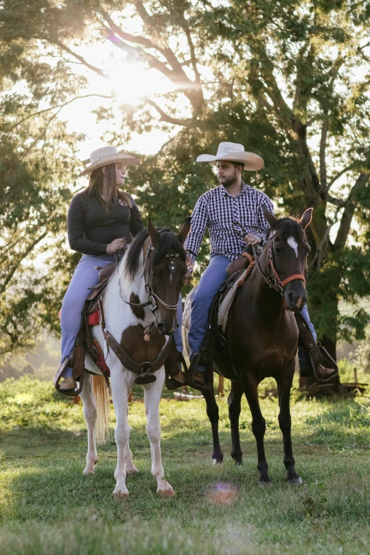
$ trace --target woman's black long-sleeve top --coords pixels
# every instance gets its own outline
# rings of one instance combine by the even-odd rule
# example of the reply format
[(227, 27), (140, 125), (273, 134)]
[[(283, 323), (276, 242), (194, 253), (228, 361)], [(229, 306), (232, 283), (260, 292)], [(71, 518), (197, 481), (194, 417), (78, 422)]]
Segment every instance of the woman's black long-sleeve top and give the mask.
[[(130, 196), (130, 195), (129, 195)], [(83, 254), (106, 253), (106, 246), (118, 237), (128, 241), (144, 228), (138, 206), (128, 208), (122, 201), (110, 206), (108, 213), (96, 194), (85, 189), (72, 198), (68, 209), (67, 231), (69, 246)]]

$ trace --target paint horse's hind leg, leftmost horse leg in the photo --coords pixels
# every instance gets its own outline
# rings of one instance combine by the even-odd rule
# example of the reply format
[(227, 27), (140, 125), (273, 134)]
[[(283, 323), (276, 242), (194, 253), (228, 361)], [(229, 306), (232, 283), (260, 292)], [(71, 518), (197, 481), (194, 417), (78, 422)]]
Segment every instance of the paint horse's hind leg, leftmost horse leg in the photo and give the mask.
[(94, 474), (95, 465), (98, 462), (98, 453), (96, 452), (96, 403), (94, 398), (94, 391), (92, 388), (91, 374), (85, 374), (84, 386), (79, 396), (84, 403), (84, 417), (87, 425), (87, 454), (86, 466), (83, 474)]

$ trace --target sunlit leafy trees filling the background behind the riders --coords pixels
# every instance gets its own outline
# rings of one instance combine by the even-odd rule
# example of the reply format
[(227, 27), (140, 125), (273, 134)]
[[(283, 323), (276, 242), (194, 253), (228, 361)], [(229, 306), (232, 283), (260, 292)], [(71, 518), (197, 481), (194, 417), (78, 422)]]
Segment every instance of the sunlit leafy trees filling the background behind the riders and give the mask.
[[(35, 218), (33, 241), (43, 232), (60, 236), (78, 138), (67, 136), (58, 112), (77, 97), (108, 97), (91, 116), (106, 121), (107, 142), (154, 128), (171, 135), (155, 155), (140, 156), (128, 182), (159, 225), (178, 225), (215, 185), (211, 167), (196, 164), (198, 154), (230, 140), (262, 155), (264, 169), (245, 180), (274, 198), (281, 214), (314, 208), (308, 291), (321, 341), (335, 354), (338, 337), (361, 339), (368, 315), (359, 309), (344, 318), (338, 303), (370, 293), (369, 16), (370, 2), (354, 0), (4, 0), (0, 75), (9, 108), (1, 128), (11, 139), (0, 157), (4, 179), (13, 179), (4, 194), (5, 244), (18, 227), (9, 224), (19, 210), (11, 194), (19, 198), (28, 181), (38, 184), (30, 186), (37, 216), (25, 209), (17, 217), (25, 225)], [(143, 65), (148, 79), (150, 72), (164, 76), (167, 91), (142, 91), (130, 105), (108, 87), (101, 94), (98, 83), (109, 75), (89, 55), (93, 45), (116, 52), (118, 68), (132, 64), (127, 86)], [(65, 159), (68, 168), (58, 165)], [(9, 245), (12, 259), (27, 254)], [(205, 244), (200, 267), (206, 251)]]

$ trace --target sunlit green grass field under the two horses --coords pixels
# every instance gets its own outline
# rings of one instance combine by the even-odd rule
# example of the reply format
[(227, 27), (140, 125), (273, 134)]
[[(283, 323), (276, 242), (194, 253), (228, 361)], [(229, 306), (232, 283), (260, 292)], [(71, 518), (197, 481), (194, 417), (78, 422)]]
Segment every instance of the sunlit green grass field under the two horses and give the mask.
[(221, 399), (225, 459), (213, 468), (203, 401), (163, 399), (162, 456), (176, 497), (155, 494), (145, 409), (137, 402), (130, 407), (130, 447), (140, 473), (128, 477), (130, 498), (117, 502), (111, 496), (113, 441), (99, 448), (95, 475), (82, 476), (82, 406), (46, 382), (0, 384), (1, 555), (369, 554), (369, 398), (308, 401), (293, 391), (293, 449), (303, 487), (284, 481), (277, 401), (261, 403), (274, 486), (257, 486), (245, 403), (244, 465), (230, 459), (227, 402)]

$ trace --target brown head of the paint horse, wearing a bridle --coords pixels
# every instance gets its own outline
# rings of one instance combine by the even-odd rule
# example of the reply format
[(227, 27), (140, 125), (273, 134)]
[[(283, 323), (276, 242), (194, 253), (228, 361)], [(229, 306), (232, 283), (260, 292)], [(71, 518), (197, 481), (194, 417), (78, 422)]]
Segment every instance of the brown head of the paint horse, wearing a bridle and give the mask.
[(152, 302), (157, 329), (171, 335), (179, 327), (176, 308), (186, 274), (184, 242), (190, 230), (191, 218), (185, 218), (179, 233), (157, 230), (149, 219), (149, 237), (143, 245), (145, 283)]

